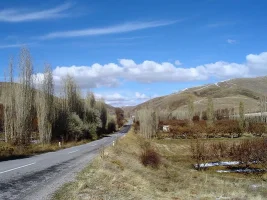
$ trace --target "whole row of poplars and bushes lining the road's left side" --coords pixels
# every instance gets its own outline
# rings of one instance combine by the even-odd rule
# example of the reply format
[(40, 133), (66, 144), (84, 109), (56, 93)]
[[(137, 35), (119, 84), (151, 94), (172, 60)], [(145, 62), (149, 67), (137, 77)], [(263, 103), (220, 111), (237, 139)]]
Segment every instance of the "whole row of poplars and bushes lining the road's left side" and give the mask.
[(6, 142), (28, 145), (33, 133), (42, 144), (96, 139), (107, 133), (106, 127), (114, 127), (115, 121), (108, 115), (104, 101), (96, 101), (91, 92), (82, 98), (73, 77), (66, 76), (55, 95), (50, 66), (45, 65), (38, 79), (27, 48), (21, 49), (17, 70), (12, 59), (8, 68), (1, 88)]

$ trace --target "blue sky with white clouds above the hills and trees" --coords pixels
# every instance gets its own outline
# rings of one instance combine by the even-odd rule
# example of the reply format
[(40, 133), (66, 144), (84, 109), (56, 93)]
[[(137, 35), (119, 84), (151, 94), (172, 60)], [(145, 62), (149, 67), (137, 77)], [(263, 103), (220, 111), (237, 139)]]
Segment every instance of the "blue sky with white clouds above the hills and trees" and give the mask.
[(267, 75), (265, 0), (0, 1), (0, 77), (29, 48), (55, 85), (131, 106), (185, 88)]

